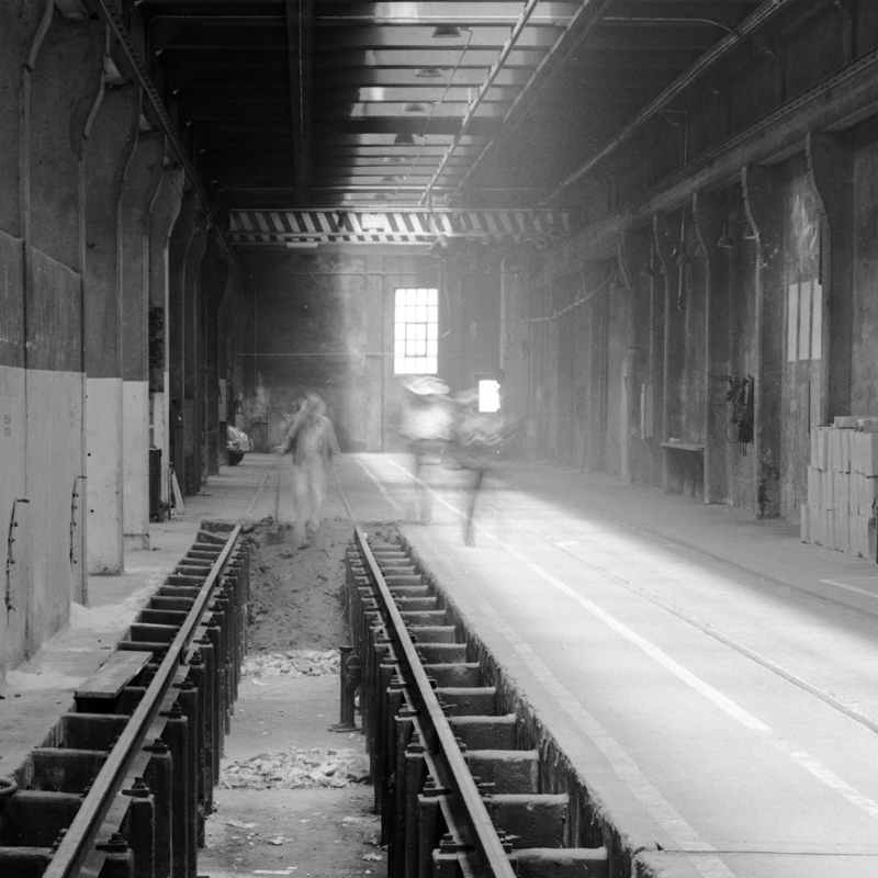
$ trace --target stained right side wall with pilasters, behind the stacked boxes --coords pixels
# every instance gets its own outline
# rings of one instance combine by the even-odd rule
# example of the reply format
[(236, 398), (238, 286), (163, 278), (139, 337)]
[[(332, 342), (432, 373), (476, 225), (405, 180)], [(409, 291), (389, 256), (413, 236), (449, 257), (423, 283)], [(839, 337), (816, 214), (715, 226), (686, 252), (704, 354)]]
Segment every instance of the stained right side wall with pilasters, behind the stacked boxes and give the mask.
[[(876, 154), (868, 140), (809, 139), (616, 247), (583, 236), (522, 259), (507, 286), (505, 390), (528, 424), (528, 452), (667, 486), (661, 442), (703, 446), (705, 499), (798, 520), (810, 428), (877, 410)], [(731, 248), (716, 246), (723, 229)], [(754, 379), (752, 443), (735, 441), (724, 375)], [(641, 431), (643, 385), (652, 437)]]

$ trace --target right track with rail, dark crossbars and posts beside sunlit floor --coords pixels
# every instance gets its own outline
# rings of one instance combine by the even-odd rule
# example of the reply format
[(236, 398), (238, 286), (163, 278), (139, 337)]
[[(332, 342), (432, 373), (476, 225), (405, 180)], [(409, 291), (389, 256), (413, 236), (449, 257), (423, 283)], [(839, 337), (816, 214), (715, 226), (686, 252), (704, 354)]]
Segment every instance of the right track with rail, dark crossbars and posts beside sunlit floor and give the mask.
[(356, 527), (346, 571), (361, 666), (349, 687), (359, 685), (389, 875), (630, 874), (563, 754), (413, 553)]

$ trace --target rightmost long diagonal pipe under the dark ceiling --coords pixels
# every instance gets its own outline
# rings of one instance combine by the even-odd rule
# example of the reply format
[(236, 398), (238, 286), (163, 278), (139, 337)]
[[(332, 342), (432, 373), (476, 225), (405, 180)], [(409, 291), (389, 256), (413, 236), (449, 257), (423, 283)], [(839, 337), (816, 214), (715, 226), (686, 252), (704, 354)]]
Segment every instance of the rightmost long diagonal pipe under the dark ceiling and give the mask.
[(554, 201), (567, 187), (582, 179), (598, 162), (603, 161), (610, 153), (618, 149), (622, 144), (630, 139), (641, 125), (664, 110), (672, 101), (678, 98), (689, 86), (703, 76), (713, 65), (724, 58), (735, 46), (747, 37), (752, 36), (763, 25), (767, 24), (777, 15), (781, 9), (788, 7), (795, 0), (765, 0), (765, 2), (753, 12), (740, 29), (724, 36), (717, 45), (712, 46), (688, 69), (678, 76), (657, 98), (643, 108), (619, 134), (606, 143), (595, 155), (584, 165), (581, 165), (570, 177), (567, 177), (555, 190), (545, 199), (543, 204)]

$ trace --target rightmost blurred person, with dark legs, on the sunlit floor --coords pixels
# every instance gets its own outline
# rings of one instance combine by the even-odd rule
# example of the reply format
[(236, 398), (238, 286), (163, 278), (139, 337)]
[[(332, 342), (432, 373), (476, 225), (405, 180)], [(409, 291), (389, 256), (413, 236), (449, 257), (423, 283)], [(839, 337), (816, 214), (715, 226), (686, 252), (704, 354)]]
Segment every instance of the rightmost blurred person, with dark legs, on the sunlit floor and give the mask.
[(464, 470), (463, 542), (475, 545), (475, 502), (485, 472), (503, 447), (505, 421), (494, 412), (479, 410), (479, 391), (459, 393), (455, 399), (458, 417), (452, 440), (454, 459)]

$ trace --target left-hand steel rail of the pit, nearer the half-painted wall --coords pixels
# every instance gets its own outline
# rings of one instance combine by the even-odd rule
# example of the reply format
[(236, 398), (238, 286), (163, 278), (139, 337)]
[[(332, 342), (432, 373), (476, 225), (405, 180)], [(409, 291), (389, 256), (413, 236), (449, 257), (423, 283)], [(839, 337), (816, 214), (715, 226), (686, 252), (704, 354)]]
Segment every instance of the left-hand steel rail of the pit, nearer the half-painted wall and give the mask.
[(156, 719), (161, 701), (173, 682), (181, 658), (192, 641), (209, 601), (213, 598), (216, 585), (225, 571), (232, 551), (240, 536), (240, 525), (232, 531), (219, 556), (211, 567), (204, 585), (189, 610), (180, 630), (165, 654), (165, 658), (153, 677), (140, 702), (119, 736), (113, 750), (106, 757), (94, 778), (91, 790), (77, 811), (72, 823), (61, 840), (58, 849), (52, 857), (43, 878), (77, 878), (86, 858), (91, 853), (104, 820), (113, 806), (115, 797), (122, 789), (135, 757), (137, 756), (149, 727)]

